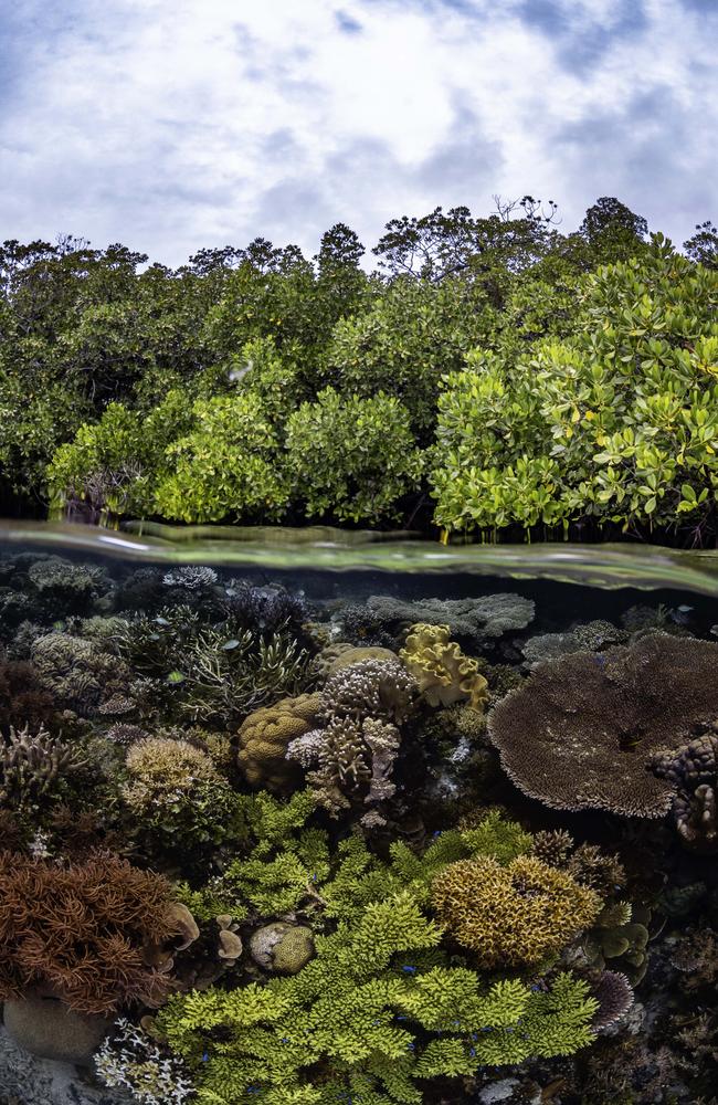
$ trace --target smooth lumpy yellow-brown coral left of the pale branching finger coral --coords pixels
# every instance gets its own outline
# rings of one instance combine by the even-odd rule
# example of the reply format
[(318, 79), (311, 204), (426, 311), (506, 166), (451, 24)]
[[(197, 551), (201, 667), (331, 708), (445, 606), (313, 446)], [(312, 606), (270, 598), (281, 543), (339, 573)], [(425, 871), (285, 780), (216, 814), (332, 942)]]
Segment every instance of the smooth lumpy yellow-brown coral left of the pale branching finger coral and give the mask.
[(244, 719), (237, 760), (250, 786), (282, 792), (298, 782), (302, 772), (285, 758), (287, 745), (316, 726), (320, 706), (318, 694), (303, 694), (255, 709)]

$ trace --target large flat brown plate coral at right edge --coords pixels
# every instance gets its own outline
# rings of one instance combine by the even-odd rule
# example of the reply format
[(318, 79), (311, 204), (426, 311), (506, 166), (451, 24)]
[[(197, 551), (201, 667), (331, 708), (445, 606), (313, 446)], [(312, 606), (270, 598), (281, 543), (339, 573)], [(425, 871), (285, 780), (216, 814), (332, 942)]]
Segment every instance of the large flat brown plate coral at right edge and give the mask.
[(630, 648), (540, 664), (489, 714), (488, 733), (519, 790), (560, 810), (657, 818), (675, 783), (651, 771), (718, 715), (718, 645), (653, 634)]

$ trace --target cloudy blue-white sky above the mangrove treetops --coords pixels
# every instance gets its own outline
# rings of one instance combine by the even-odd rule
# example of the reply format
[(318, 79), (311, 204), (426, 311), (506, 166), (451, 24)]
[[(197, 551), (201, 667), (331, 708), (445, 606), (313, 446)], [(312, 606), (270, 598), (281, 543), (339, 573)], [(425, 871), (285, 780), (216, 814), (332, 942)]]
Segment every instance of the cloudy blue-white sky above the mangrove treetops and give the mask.
[(0, 0), (0, 240), (172, 266), (437, 204), (718, 221), (718, 0)]

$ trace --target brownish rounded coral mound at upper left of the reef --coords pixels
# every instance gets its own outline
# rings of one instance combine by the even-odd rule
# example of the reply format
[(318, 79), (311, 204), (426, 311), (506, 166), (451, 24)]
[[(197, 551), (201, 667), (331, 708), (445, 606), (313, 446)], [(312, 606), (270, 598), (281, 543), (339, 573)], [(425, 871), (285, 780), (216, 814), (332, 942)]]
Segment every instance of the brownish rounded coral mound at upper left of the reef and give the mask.
[(42, 687), (60, 708), (91, 717), (102, 703), (126, 691), (129, 669), (95, 642), (70, 633), (46, 633), (32, 650)]

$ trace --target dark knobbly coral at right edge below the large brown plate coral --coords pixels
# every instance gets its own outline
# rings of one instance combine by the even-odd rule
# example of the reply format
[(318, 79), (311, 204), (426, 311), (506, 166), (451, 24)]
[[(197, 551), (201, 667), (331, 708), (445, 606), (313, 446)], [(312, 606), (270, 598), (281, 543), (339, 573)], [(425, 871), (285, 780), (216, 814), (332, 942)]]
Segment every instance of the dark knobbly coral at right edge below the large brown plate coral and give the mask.
[(651, 766), (675, 788), (671, 812), (682, 842), (696, 852), (718, 852), (718, 722), (680, 748), (656, 753)]

